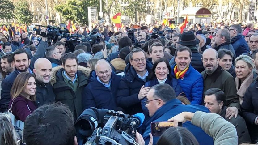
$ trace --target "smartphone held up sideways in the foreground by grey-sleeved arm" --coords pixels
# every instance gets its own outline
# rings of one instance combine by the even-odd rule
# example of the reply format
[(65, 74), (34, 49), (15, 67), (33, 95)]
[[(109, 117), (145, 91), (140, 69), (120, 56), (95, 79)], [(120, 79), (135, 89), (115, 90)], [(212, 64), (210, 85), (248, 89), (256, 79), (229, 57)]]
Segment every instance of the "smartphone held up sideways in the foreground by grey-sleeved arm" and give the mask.
[[(168, 128), (173, 127), (174, 122), (151, 122), (152, 136), (161, 136)], [(178, 122), (178, 126), (182, 126), (182, 122)]]

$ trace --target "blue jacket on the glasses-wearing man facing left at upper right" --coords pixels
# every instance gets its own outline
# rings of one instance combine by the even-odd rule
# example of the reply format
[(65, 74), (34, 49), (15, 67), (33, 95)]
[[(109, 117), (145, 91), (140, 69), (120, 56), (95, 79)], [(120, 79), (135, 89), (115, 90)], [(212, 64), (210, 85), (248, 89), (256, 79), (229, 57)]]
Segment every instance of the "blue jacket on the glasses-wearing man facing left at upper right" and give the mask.
[(235, 49), (236, 57), (239, 57), (239, 55), (241, 55), (243, 53), (249, 52), (249, 46), (241, 33), (239, 33), (237, 36), (233, 37), (230, 40), (230, 42)]

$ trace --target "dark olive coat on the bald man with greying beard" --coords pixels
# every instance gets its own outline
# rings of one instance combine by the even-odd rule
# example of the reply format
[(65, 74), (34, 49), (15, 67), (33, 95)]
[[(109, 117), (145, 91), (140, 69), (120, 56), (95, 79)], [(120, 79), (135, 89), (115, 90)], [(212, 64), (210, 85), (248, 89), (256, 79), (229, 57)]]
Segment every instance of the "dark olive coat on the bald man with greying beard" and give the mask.
[[(223, 70), (220, 66), (218, 66), (217, 70), (215, 70), (211, 75), (208, 75), (206, 71), (201, 73), (203, 77), (203, 100), (204, 93), (210, 88), (219, 88), (221, 89), (226, 96), (226, 106), (232, 107), (235, 106), (240, 110), (239, 99), (236, 94), (236, 86), (235, 81), (232, 75)], [(203, 101), (202, 101), (203, 102)]]

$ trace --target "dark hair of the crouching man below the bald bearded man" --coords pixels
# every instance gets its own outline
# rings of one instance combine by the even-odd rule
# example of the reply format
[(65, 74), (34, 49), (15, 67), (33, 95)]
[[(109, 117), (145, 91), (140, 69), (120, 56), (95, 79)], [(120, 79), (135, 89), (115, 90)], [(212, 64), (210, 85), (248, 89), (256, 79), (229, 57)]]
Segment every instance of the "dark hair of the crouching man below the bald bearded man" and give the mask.
[(218, 103), (223, 102), (223, 106), (225, 106), (226, 103), (226, 96), (225, 93), (218, 88), (211, 88), (207, 91), (204, 92), (204, 96), (210, 96), (210, 95), (215, 95), (216, 96), (216, 101)]

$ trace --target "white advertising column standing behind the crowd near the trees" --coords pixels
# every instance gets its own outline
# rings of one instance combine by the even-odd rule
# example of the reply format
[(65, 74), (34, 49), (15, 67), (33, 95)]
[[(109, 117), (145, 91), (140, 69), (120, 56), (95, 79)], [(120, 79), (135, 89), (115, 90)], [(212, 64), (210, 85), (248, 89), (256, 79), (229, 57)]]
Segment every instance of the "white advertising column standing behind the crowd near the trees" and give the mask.
[(95, 26), (98, 23), (98, 9), (97, 7), (88, 7), (88, 21), (89, 30), (92, 30), (92, 24)]

